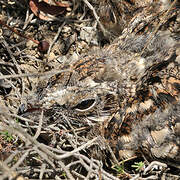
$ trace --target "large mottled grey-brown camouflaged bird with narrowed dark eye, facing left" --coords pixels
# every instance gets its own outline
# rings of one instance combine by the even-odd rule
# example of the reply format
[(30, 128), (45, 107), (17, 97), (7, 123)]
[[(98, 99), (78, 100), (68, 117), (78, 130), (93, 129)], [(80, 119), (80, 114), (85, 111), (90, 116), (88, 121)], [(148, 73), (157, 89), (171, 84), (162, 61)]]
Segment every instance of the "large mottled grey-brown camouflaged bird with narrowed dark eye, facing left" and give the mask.
[(62, 67), (38, 88), (33, 108), (47, 122), (101, 124), (119, 160), (143, 154), (180, 168), (180, 10), (154, 33), (165, 12), (140, 12), (113, 44)]

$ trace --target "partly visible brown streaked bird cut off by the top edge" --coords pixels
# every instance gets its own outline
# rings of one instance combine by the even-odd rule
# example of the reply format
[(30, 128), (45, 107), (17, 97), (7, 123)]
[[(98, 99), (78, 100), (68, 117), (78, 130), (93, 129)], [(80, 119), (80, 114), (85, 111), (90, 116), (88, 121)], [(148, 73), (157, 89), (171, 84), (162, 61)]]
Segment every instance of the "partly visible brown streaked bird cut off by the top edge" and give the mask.
[[(124, 29), (134, 33), (144, 33), (149, 31), (149, 28), (153, 30), (157, 27), (158, 21), (164, 18), (166, 10), (173, 2), (170, 0), (91, 1), (97, 7), (96, 10), (101, 23), (112, 35), (121, 35)], [(174, 5), (179, 6), (179, 2), (174, 1)], [(167, 26), (172, 26), (176, 10), (175, 8), (168, 12), (169, 17), (166, 18), (169, 20), (166, 21), (168, 23), (164, 27), (165, 29)]]

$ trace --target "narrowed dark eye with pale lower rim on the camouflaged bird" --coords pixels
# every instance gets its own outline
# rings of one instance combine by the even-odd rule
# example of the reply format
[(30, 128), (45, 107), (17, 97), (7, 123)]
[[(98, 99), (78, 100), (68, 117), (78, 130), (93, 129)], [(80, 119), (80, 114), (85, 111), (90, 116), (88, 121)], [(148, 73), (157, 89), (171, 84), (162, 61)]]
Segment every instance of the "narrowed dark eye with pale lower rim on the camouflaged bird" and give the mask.
[(81, 101), (79, 104), (77, 104), (74, 109), (76, 111), (88, 111), (90, 110), (94, 105), (96, 104), (96, 100), (95, 99), (86, 99)]

